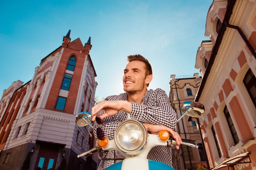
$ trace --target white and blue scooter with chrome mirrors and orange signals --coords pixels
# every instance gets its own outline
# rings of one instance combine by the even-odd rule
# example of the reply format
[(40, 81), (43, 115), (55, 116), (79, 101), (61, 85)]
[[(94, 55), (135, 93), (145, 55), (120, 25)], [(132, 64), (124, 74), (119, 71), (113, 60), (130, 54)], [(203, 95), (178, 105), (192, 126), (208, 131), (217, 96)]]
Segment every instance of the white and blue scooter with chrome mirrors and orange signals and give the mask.
[[(184, 113), (177, 119), (177, 122), (186, 114), (191, 117), (201, 117), (204, 114), (204, 105), (198, 102), (183, 102), (180, 106)], [(76, 124), (80, 127), (89, 125), (93, 128), (92, 115), (90, 112), (81, 112), (76, 115)], [(103, 124), (103, 119), (96, 117), (97, 124)], [(89, 129), (88, 132), (90, 133)], [(90, 134), (91, 135), (91, 134)], [(144, 125), (137, 120), (127, 119), (119, 124), (116, 128), (114, 139), (108, 140), (105, 136), (104, 130), (100, 127), (96, 129), (96, 146), (92, 149), (78, 155), (89, 156), (93, 153), (98, 153), (100, 160), (122, 160), (113, 164), (105, 170), (175, 170), (171, 166), (147, 159), (147, 155), (152, 147), (163, 145), (168, 147), (175, 147), (176, 141), (169, 136), (168, 131), (161, 130), (158, 135), (147, 133)], [(182, 144), (190, 147), (198, 148), (195, 145), (195, 140), (182, 139)], [(125, 159), (108, 159), (105, 154), (108, 150), (117, 150)], [(101, 157), (103, 153), (103, 157)]]

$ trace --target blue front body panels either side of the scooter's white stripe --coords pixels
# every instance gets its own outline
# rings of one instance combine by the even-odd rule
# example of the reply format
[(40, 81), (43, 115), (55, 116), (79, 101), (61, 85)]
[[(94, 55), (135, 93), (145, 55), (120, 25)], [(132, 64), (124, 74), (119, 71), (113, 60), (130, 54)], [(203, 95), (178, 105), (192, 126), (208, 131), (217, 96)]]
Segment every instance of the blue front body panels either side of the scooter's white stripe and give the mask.
[[(152, 160), (148, 160), (148, 166), (149, 166), (149, 170), (157, 170), (157, 169), (175, 170), (173, 167), (170, 167), (167, 164), (164, 164), (158, 161), (152, 161)], [(107, 167), (105, 170), (121, 170), (121, 168), (122, 168), (122, 161), (116, 164), (113, 164), (110, 167)]]

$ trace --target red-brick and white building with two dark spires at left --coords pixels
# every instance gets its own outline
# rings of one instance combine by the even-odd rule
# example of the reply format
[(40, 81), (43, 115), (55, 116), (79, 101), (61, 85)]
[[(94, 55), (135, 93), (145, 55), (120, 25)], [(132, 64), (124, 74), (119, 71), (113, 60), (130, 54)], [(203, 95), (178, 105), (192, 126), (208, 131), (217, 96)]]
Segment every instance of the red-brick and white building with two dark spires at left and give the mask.
[[(91, 158), (77, 155), (93, 146), (75, 116), (90, 111), (95, 100), (96, 71), (85, 45), (70, 41), (70, 31), (55, 51), (41, 60), (32, 79), (3, 91), (0, 100), (0, 169), (96, 169)], [(28, 168), (29, 166), (29, 168)]]

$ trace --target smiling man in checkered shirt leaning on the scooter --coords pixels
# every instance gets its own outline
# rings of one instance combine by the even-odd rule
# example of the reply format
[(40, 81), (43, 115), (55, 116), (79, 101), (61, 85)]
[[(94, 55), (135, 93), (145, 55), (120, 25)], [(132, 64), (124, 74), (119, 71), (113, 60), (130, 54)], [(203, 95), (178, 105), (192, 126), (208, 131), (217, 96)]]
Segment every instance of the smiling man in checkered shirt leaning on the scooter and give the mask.
[[(124, 70), (123, 86), (126, 93), (108, 96), (92, 108), (93, 121), (99, 111), (99, 115), (105, 123), (101, 128), (108, 139), (114, 138), (116, 127), (126, 119), (136, 119), (144, 123), (147, 131), (158, 134), (160, 130), (168, 130), (176, 140), (177, 146), (181, 143), (180, 136), (173, 130), (176, 126), (176, 113), (172, 109), (168, 96), (160, 88), (147, 90), (151, 82), (151, 64), (140, 54), (127, 57), (128, 64)], [(97, 126), (95, 124), (95, 126)], [(96, 130), (96, 128), (94, 128)], [(94, 132), (95, 133), (95, 132)], [(109, 150), (107, 158), (119, 158), (116, 150)], [(148, 153), (148, 159), (160, 161), (172, 166), (171, 148), (167, 146), (153, 147)], [(98, 170), (116, 163), (114, 160), (101, 161)]]

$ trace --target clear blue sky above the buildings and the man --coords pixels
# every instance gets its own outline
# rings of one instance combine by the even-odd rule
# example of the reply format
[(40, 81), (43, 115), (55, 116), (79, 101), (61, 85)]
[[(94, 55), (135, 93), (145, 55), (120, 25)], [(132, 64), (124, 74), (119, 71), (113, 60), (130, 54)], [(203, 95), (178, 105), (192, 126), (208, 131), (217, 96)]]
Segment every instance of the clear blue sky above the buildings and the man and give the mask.
[(142, 54), (151, 62), (149, 88), (169, 94), (170, 75), (198, 73), (195, 57), (204, 37), (212, 0), (26, 0), (0, 6), (0, 96), (12, 82), (32, 79), (42, 58), (71, 41), (91, 37), (96, 96), (123, 92), (125, 57)]

